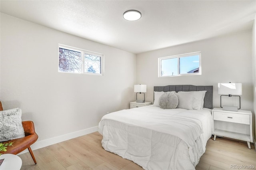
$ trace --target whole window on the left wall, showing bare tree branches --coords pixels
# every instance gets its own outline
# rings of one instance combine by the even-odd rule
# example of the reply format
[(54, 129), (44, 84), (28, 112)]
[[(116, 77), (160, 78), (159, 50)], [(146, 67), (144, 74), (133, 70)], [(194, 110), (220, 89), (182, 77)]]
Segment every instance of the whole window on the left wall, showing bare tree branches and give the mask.
[(59, 72), (103, 75), (103, 55), (59, 45)]

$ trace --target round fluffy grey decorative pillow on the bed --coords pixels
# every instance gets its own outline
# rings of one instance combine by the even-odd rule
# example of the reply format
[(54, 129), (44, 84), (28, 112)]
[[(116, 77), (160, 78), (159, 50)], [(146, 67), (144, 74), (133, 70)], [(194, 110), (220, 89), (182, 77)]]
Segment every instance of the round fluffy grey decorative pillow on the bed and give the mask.
[(164, 93), (159, 98), (159, 106), (162, 109), (175, 109), (178, 103), (178, 97), (173, 92)]

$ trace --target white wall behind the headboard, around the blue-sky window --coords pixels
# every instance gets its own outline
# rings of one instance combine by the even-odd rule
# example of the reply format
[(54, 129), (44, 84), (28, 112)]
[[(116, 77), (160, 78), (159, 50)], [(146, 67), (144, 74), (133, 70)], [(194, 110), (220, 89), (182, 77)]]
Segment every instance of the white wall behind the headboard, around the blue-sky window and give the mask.
[[(158, 58), (201, 51), (202, 75), (158, 77)], [(146, 101), (153, 102), (158, 85), (213, 85), (213, 106), (220, 107), (218, 83), (242, 83), (241, 109), (253, 110), (252, 32), (202, 40), (137, 55), (137, 83), (147, 85)], [(235, 99), (235, 98), (233, 98)], [(236, 99), (238, 100), (238, 99)]]

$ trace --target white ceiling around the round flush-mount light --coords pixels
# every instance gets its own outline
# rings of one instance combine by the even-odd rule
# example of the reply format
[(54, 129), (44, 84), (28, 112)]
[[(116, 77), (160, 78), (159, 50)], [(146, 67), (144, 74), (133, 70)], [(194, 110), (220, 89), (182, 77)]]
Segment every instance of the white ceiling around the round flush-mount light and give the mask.
[[(132, 9), (140, 20), (124, 20)], [(0, 10), (137, 54), (251, 30), (256, 0), (0, 0)]]

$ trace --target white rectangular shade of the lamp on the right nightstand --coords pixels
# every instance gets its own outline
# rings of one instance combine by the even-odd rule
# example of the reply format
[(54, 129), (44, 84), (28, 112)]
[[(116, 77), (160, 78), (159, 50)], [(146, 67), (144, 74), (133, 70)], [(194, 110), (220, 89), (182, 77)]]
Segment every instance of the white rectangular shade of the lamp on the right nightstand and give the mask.
[(242, 95), (242, 83), (218, 83), (218, 94)]

